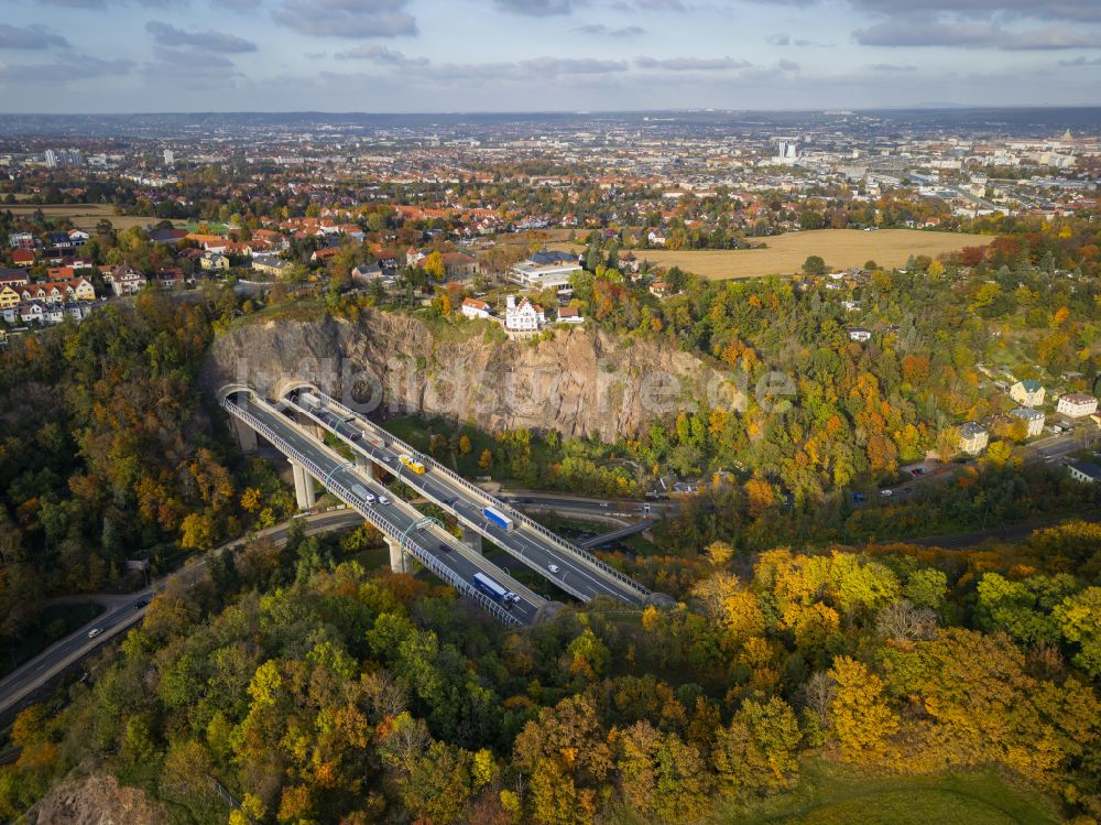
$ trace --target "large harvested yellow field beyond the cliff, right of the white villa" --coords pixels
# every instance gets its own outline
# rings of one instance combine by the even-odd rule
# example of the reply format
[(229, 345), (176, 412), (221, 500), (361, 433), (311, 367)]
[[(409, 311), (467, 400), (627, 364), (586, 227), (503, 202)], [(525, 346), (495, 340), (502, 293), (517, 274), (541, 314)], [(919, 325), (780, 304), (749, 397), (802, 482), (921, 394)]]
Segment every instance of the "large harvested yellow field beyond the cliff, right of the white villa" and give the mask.
[(936, 258), (963, 247), (981, 247), (993, 238), (984, 235), (935, 232), (922, 229), (816, 229), (761, 238), (767, 249), (719, 249), (673, 251), (637, 250), (640, 260), (661, 267), (679, 267), (704, 278), (759, 278), (799, 272), (808, 256), (821, 256), (832, 269), (863, 267), (875, 261), (881, 267), (903, 267), (911, 256)]

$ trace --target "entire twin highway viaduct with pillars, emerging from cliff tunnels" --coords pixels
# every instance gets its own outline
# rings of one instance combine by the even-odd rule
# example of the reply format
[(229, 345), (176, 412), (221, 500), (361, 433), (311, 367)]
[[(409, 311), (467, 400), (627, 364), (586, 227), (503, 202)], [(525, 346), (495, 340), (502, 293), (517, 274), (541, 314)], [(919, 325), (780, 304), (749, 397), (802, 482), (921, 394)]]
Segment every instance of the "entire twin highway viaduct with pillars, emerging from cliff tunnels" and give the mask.
[[(484, 538), (582, 601), (610, 596), (641, 606), (667, 599), (417, 453), (313, 384), (283, 381), (275, 397), (269, 402), (244, 384), (226, 384), (219, 391), (242, 448), (255, 448), (259, 434), (291, 462), (298, 507), (314, 507), (316, 480), (385, 536), (394, 572), (408, 573), (415, 558), (505, 623), (528, 625), (546, 614), (552, 603), (482, 556)], [(346, 444), (355, 460), (326, 445), (326, 434)], [(411, 469), (403, 456), (424, 471)], [(385, 474), (453, 515), (462, 528), (462, 541), (382, 487), (379, 478)], [(487, 517), (487, 508), (505, 514), (511, 525)], [(502, 599), (487, 589), (487, 577), (512, 596)]]

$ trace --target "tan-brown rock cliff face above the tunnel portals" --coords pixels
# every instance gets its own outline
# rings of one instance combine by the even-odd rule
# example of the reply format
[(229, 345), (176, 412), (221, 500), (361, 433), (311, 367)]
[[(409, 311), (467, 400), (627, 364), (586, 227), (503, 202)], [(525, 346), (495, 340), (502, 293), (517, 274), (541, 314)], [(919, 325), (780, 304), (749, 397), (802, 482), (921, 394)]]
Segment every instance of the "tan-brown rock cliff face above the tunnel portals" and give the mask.
[(240, 326), (215, 343), (204, 384), (241, 382), (274, 394), (290, 378), (360, 410), (606, 441), (705, 400), (744, 409), (727, 376), (665, 345), (591, 328), (559, 328), (554, 340), (533, 345), (504, 339), (488, 322), (428, 326), (377, 311), (356, 323), (326, 316)]

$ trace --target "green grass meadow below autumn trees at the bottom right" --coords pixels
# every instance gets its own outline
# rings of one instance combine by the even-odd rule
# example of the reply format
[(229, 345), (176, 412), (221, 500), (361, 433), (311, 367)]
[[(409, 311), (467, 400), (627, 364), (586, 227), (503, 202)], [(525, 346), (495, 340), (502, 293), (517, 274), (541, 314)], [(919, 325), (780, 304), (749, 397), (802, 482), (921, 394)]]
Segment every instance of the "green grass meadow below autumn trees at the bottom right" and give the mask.
[(1044, 797), (1000, 774), (876, 775), (806, 759), (791, 791), (750, 803), (723, 802), (715, 825), (1055, 825)]

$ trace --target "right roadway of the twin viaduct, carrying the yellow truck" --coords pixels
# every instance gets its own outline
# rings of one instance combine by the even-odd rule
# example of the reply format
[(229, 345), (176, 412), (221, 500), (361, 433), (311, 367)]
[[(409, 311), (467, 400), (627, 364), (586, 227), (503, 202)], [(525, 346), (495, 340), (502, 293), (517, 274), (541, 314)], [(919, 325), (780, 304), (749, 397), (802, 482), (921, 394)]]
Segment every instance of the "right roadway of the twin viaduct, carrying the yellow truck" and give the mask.
[[(612, 596), (622, 601), (642, 604), (650, 595), (641, 585), (629, 579), (623, 580), (589, 561), (591, 557), (587, 557), (588, 554), (577, 549), (569, 550), (568, 543), (564, 540), (555, 540), (541, 532), (531, 522), (522, 520), (517, 511), (489, 493), (476, 491), (446, 473), (439, 471), (439, 465), (430, 458), (422, 457), (429, 467), (423, 475), (405, 468), (399, 460), (404, 448), (401, 444), (394, 443), (393, 436), (327, 397), (320, 397), (319, 401), (320, 404), (315, 406), (296, 399), (292, 410), (309, 416), (341, 438), (358, 455), (383, 467), (425, 498), (454, 513), (466, 528), (489, 539), (559, 588), (586, 601), (597, 596)], [(381, 435), (385, 446), (370, 443), (362, 436), (363, 432)], [(482, 515), (482, 508), (487, 506), (511, 510), (509, 514), (515, 520), (514, 529), (504, 530), (486, 519)], [(552, 567), (557, 568), (557, 572), (552, 572)]]

